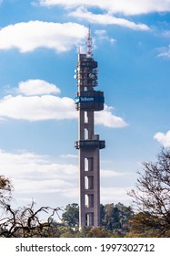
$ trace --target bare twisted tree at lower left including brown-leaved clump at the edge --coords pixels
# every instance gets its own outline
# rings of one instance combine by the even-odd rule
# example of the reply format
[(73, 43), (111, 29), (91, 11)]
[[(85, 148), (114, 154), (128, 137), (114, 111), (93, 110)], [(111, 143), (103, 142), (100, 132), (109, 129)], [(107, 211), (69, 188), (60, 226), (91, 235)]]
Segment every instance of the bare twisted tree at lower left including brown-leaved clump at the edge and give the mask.
[[(24, 208), (12, 208), (12, 184), (5, 176), (0, 176), (0, 237), (5, 238), (32, 238), (57, 237), (58, 226), (53, 217), (58, 216), (60, 208), (41, 207), (35, 209), (35, 203)], [(40, 213), (46, 213), (47, 219), (41, 220)]]

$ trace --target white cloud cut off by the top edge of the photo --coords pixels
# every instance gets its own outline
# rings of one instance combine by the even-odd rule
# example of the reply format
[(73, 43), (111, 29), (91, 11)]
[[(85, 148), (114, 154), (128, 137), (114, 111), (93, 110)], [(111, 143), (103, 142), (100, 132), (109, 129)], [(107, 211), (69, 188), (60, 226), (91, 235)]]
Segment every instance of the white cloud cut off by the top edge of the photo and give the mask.
[(98, 7), (113, 14), (141, 15), (152, 12), (169, 12), (169, 0), (39, 0), (40, 5), (65, 7)]

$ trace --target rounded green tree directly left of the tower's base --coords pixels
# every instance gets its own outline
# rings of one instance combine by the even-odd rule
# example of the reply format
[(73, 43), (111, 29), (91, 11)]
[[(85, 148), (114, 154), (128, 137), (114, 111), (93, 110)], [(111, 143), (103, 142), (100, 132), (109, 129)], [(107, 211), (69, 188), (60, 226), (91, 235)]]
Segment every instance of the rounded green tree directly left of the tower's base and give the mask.
[(79, 206), (78, 204), (69, 204), (65, 207), (65, 212), (62, 215), (66, 225), (75, 228), (79, 224)]

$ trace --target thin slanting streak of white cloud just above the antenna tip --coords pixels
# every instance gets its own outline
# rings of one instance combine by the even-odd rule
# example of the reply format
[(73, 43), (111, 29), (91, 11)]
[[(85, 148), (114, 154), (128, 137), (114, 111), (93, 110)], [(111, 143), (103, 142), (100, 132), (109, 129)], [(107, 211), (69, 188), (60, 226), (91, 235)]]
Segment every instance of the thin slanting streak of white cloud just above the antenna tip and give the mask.
[(91, 12), (85, 11), (84, 8), (78, 8), (71, 12), (69, 16), (75, 16), (81, 19), (86, 19), (90, 23), (102, 24), (102, 25), (117, 25), (121, 27), (128, 27), (135, 30), (149, 30), (145, 24), (135, 24), (135, 22), (129, 21), (125, 18), (115, 17), (110, 14), (95, 15)]

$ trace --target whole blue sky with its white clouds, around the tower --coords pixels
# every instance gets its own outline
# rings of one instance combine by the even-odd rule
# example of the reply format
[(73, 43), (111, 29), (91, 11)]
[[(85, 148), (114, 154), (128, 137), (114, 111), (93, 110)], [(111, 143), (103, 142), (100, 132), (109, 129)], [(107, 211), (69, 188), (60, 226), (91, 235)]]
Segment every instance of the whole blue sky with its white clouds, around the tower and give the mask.
[(74, 74), (89, 24), (105, 91), (101, 203), (130, 205), (141, 163), (170, 146), (169, 0), (1, 0), (0, 170), (17, 205), (78, 202)]

